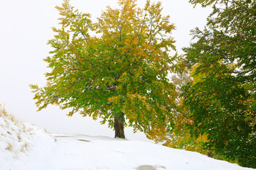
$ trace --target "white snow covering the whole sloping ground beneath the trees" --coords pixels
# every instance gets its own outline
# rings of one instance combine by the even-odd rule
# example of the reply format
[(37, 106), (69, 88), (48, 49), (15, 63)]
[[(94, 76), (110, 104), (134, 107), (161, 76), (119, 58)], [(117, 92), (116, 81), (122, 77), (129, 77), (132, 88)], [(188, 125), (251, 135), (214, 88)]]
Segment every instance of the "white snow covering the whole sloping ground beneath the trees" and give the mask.
[(237, 164), (151, 142), (48, 134), (0, 115), (1, 170), (243, 170)]

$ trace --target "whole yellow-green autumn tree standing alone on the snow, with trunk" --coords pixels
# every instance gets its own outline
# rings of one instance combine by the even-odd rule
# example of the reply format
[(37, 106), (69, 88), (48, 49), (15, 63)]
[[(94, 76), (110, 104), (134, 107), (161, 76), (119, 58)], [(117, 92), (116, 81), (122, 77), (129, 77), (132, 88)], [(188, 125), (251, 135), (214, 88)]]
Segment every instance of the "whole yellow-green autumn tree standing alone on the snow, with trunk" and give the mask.
[[(161, 14), (161, 3), (137, 7), (135, 0), (119, 0), (97, 23), (89, 13), (80, 13), (65, 0), (60, 28), (49, 44), (51, 56), (44, 61), (50, 72), (43, 87), (31, 85), (40, 111), (49, 104), (73, 108), (101, 118), (124, 138), (124, 127), (145, 132), (148, 137), (170, 129), (175, 112), (175, 87), (167, 74), (174, 69), (174, 24)], [(92, 36), (95, 35), (95, 36)]]

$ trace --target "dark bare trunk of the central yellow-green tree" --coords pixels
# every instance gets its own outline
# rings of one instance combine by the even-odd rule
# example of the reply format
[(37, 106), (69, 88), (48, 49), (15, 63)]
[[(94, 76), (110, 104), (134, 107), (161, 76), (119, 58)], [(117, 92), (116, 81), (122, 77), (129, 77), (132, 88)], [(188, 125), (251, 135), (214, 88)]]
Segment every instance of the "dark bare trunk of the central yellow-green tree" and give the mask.
[(114, 137), (124, 137), (124, 113), (115, 113), (114, 115)]

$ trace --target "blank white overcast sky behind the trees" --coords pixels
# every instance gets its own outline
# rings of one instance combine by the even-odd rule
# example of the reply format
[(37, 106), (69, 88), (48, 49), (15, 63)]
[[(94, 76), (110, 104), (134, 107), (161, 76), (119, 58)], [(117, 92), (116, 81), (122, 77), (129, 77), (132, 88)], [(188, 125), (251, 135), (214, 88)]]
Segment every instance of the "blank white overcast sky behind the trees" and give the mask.
[[(138, 0), (143, 6), (146, 0)], [(151, 0), (153, 1), (153, 0)], [(164, 14), (171, 16), (175, 23), (174, 38), (181, 52), (190, 42), (190, 30), (206, 24), (210, 9), (197, 6), (193, 8), (188, 0), (160, 0)], [(44, 86), (46, 63), (53, 38), (51, 28), (58, 24), (60, 0), (0, 0), (0, 103), (5, 103), (7, 111), (19, 120), (29, 121), (49, 132), (82, 133), (87, 135), (114, 136), (107, 125), (100, 125), (91, 118), (74, 115), (69, 118), (58, 107), (50, 106), (36, 112), (33, 94), (29, 84)], [(79, 11), (92, 14), (92, 19), (100, 16), (105, 6), (117, 6), (117, 0), (70, 0)], [(144, 139), (142, 134), (133, 135), (126, 130), (126, 137)]]

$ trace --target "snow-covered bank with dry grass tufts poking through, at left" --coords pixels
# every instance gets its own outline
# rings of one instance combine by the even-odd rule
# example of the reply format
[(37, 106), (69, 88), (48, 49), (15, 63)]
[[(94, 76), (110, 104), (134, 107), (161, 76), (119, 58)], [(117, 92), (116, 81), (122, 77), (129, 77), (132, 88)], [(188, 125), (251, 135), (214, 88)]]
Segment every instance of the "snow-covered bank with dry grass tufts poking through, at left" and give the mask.
[[(0, 170), (32, 170), (45, 153), (52, 152), (54, 137), (31, 123), (21, 123), (0, 112)], [(41, 155), (38, 155), (41, 154)], [(47, 155), (46, 155), (47, 157)], [(43, 163), (43, 162), (42, 162)]]

